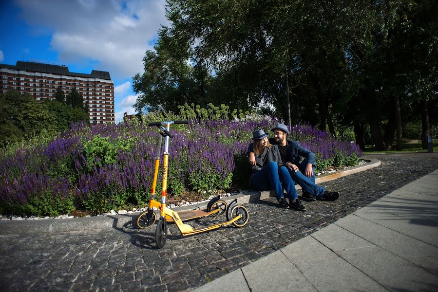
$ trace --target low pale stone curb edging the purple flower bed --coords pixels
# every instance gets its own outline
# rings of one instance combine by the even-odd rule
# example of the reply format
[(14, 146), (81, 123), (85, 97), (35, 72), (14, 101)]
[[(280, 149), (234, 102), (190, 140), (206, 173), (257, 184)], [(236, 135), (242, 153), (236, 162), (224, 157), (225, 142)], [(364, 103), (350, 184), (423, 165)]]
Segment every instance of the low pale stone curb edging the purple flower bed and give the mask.
[[(324, 174), (316, 177), (316, 183), (324, 183), (332, 180), (336, 180), (343, 176), (354, 174), (357, 172), (365, 171), (370, 168), (381, 165), (381, 161), (377, 159), (363, 159), (368, 161), (366, 164), (354, 166), (349, 169), (336, 171), (333, 173)], [(297, 189), (301, 189), (301, 186), (296, 185)], [(275, 196), (273, 192), (255, 192), (255, 191), (243, 191), (240, 194), (230, 197), (222, 198), (227, 203), (230, 203), (234, 199), (237, 199), (237, 203), (245, 204), (248, 202), (255, 202), (264, 200), (270, 196)], [(203, 202), (195, 205), (182, 206), (172, 208), (174, 211), (187, 211), (197, 208), (206, 207), (208, 202)], [(126, 214), (126, 215), (107, 215), (107, 216), (94, 216), (94, 217), (80, 217), (72, 219), (39, 219), (39, 220), (0, 220), (0, 235), (10, 234), (36, 234), (36, 233), (52, 233), (52, 232), (73, 232), (83, 230), (94, 229), (108, 229), (132, 227), (131, 222), (133, 218), (136, 218), (139, 213)]]

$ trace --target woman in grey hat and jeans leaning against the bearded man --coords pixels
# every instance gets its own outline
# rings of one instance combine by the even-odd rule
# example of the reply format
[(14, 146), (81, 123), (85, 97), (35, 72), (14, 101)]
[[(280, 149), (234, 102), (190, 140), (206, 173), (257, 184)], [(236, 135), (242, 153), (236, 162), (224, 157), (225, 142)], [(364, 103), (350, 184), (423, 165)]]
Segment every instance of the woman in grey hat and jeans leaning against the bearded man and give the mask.
[[(305, 211), (305, 207), (298, 200), (289, 171), (282, 164), (278, 146), (269, 143), (267, 134), (262, 129), (252, 132), (252, 140), (254, 141), (255, 165), (251, 166), (253, 173), (249, 179), (251, 189), (255, 191), (274, 189), (281, 208), (290, 207)], [(283, 188), (286, 189), (289, 204), (283, 196)]]

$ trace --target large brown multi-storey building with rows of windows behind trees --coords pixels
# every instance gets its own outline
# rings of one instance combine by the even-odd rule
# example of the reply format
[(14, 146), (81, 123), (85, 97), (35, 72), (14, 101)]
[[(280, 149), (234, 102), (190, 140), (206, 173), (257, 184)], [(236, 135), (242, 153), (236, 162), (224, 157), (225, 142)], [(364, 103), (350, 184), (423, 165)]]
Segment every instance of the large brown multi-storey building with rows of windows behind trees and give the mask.
[(87, 104), (90, 123), (114, 123), (114, 82), (109, 72), (73, 73), (64, 65), (17, 61), (16, 65), (0, 64), (0, 80), (1, 92), (15, 89), (37, 100), (54, 100), (58, 87), (65, 95), (75, 88)]

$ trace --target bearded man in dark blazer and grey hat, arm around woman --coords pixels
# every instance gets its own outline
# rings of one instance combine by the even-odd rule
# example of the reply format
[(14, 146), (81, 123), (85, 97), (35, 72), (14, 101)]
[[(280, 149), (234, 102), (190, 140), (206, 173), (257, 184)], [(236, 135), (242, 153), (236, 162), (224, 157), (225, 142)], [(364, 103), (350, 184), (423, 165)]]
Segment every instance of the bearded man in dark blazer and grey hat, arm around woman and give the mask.
[[(303, 148), (297, 141), (287, 140), (290, 134), (286, 125), (277, 124), (272, 131), (274, 139), (269, 139), (269, 143), (278, 145), (283, 165), (286, 165), (290, 176), (295, 183), (301, 185), (303, 189), (303, 199), (305, 201), (328, 200), (335, 201), (339, 198), (339, 192), (328, 192), (323, 187), (315, 184), (315, 154)], [(255, 164), (255, 157), (251, 145), (248, 147), (249, 163)], [(304, 161), (300, 163), (300, 157)]]

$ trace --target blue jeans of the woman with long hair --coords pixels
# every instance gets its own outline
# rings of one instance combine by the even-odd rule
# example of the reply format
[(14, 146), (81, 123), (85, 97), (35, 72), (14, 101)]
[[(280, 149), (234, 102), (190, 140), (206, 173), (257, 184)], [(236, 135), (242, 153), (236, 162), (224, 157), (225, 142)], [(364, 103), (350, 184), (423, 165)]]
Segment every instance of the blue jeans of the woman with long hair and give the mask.
[(287, 198), (293, 201), (298, 198), (294, 182), (285, 166), (278, 167), (277, 163), (270, 162), (252, 175), (251, 189), (254, 191), (275, 190), (277, 200), (283, 198), (283, 188), (286, 189)]

